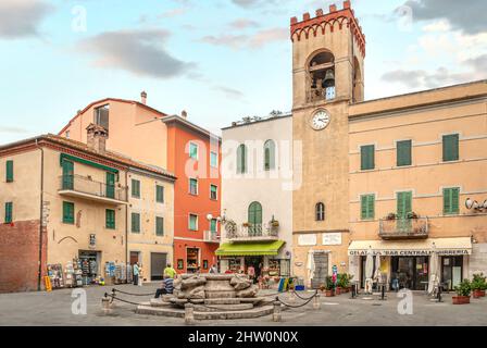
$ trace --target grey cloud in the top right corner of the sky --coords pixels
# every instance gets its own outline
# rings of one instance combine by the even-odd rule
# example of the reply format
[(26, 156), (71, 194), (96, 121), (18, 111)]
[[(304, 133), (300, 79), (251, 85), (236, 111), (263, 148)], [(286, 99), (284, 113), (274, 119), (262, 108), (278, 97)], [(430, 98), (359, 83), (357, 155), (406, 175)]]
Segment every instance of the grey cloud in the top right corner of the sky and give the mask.
[(408, 0), (404, 8), (411, 9), (413, 21), (447, 20), (467, 34), (487, 30), (485, 0)]

